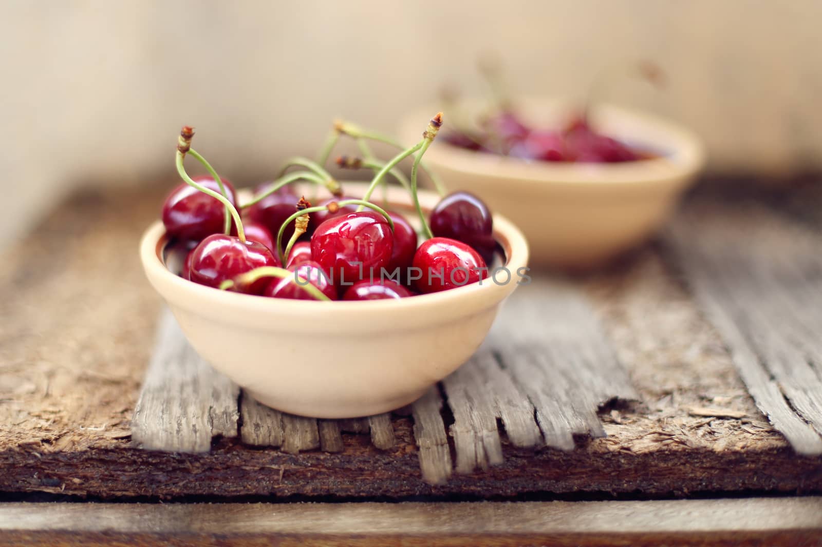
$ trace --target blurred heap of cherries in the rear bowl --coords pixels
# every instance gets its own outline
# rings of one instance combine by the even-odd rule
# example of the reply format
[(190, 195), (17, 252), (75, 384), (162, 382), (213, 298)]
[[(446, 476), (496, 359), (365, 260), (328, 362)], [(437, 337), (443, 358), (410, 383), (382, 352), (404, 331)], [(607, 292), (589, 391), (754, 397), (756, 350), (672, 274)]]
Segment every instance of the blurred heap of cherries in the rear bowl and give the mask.
[(561, 131), (528, 126), (511, 111), (486, 117), (479, 126), (480, 131), (452, 131), (444, 138), (464, 149), (547, 162), (620, 163), (653, 157), (598, 133), (582, 116)]

